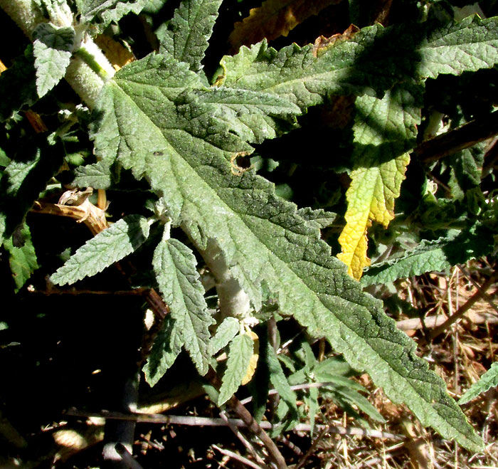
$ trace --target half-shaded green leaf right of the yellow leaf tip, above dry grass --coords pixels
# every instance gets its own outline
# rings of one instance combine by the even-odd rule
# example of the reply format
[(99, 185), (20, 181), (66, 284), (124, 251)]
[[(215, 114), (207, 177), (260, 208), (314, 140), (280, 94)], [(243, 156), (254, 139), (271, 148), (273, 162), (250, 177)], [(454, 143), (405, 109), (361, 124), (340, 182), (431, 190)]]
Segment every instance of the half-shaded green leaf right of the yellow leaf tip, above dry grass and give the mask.
[(431, 271), (444, 271), (453, 265), (480, 258), (494, 249), (494, 231), (480, 223), (457, 235), (423, 240), (401, 258), (372, 265), (361, 279), (362, 285), (388, 283), (397, 278), (408, 278)]

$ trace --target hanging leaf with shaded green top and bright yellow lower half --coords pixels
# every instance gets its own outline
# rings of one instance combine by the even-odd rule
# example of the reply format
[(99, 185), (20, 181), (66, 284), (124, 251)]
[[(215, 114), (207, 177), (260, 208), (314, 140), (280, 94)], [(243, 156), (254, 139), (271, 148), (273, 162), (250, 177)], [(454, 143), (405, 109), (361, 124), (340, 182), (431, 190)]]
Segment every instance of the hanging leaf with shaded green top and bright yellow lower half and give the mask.
[(337, 257), (356, 280), (370, 265), (366, 251), (372, 221), (387, 228), (394, 218), (394, 201), (405, 179), (420, 121), (415, 102), (420, 90), (411, 88), (395, 87), (382, 99), (361, 96), (355, 102), (355, 165), (346, 192), (346, 226), (339, 236), (342, 252)]

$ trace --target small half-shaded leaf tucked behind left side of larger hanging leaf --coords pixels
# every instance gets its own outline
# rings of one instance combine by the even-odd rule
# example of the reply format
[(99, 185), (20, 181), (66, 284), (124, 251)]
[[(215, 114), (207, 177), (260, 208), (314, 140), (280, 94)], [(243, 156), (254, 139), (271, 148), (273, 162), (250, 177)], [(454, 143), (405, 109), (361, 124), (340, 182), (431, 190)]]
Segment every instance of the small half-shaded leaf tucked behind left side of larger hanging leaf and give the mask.
[(145, 381), (150, 386), (164, 376), (181, 352), (184, 341), (181, 329), (171, 315), (164, 318), (161, 330), (154, 339), (154, 345), (144, 365)]

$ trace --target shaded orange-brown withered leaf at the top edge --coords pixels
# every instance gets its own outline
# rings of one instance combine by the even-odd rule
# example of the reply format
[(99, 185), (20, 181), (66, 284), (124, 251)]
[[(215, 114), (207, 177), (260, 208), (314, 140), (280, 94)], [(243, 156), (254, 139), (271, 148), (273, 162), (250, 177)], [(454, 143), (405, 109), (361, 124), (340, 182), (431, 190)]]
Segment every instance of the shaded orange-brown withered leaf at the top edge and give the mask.
[(259, 8), (253, 8), (243, 21), (235, 23), (228, 38), (234, 50), (249, 46), (267, 38), (287, 36), (289, 31), (309, 16), (316, 15), (326, 6), (340, 0), (266, 0)]

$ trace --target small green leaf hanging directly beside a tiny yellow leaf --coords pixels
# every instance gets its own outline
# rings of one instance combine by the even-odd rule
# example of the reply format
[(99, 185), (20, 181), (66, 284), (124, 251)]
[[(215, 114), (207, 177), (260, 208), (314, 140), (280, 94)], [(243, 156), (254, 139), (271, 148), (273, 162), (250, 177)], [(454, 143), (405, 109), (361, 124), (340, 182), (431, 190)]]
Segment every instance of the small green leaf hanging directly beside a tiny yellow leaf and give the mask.
[(218, 406), (225, 404), (235, 394), (245, 374), (247, 374), (250, 357), (253, 356), (253, 339), (248, 334), (233, 337), (228, 349), (226, 370), (221, 380)]

